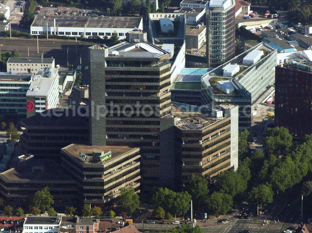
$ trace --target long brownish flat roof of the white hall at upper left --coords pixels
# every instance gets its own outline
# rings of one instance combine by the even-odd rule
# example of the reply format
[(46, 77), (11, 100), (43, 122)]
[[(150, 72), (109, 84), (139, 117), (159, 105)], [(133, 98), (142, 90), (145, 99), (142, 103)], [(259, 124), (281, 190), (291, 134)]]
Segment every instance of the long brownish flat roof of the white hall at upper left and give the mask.
[(55, 24), (59, 27), (80, 27), (80, 28), (131, 28), (139, 27), (142, 17), (126, 16), (107, 16), (107, 17), (90, 17), (90, 16), (43, 16), (37, 15), (32, 22), (32, 27), (45, 27)]

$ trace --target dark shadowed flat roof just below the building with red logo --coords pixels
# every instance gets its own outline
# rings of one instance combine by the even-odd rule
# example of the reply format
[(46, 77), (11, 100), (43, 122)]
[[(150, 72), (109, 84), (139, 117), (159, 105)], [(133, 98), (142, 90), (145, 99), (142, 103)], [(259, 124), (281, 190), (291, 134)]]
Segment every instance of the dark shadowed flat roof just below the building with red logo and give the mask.
[[(55, 115), (53, 113), (56, 113)], [(26, 127), (46, 127), (46, 128), (66, 128), (66, 127), (76, 127), (82, 129), (88, 129), (89, 124), (85, 122), (80, 116), (73, 116), (72, 110), (68, 110), (68, 116), (66, 116), (66, 111), (63, 109), (48, 109), (41, 113), (46, 115), (42, 117), (40, 114), (23, 119), (21, 123), (26, 125)], [(50, 116), (48, 116), (50, 115)]]

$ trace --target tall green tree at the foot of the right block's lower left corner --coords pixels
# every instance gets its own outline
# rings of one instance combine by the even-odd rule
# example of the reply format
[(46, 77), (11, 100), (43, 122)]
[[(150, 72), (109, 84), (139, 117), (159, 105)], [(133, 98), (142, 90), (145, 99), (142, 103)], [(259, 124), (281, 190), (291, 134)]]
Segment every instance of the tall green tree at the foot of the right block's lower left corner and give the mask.
[(209, 193), (207, 179), (197, 175), (188, 177), (187, 191), (192, 196), (194, 208), (202, 210)]

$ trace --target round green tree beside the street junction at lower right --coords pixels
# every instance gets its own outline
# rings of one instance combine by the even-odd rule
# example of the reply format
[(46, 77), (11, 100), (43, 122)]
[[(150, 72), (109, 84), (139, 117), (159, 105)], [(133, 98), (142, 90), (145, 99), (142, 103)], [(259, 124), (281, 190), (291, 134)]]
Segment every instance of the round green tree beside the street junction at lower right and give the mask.
[(264, 208), (267, 204), (273, 202), (273, 191), (270, 186), (259, 184), (249, 193), (249, 200), (258, 203), (260, 208)]

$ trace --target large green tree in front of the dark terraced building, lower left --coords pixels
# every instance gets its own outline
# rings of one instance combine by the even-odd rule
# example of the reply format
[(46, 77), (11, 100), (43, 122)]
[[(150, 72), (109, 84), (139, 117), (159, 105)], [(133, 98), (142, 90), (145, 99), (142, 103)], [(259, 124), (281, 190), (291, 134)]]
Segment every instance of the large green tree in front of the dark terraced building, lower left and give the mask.
[(30, 208), (36, 209), (41, 216), (41, 213), (47, 211), (54, 204), (53, 196), (49, 192), (49, 188), (37, 191), (30, 201)]

